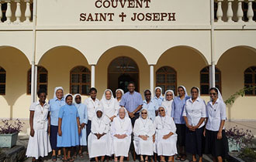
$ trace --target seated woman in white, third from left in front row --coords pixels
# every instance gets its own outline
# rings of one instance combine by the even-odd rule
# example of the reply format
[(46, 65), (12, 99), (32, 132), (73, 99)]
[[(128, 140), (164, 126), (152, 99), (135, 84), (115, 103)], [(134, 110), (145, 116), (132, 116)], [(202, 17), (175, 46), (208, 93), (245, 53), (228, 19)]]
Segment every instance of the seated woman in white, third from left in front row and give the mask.
[(140, 111), (140, 118), (135, 121), (133, 127), (133, 144), (136, 154), (140, 155), (140, 161), (148, 162), (148, 156), (154, 154), (154, 133), (153, 121), (149, 119), (147, 109), (143, 108)]

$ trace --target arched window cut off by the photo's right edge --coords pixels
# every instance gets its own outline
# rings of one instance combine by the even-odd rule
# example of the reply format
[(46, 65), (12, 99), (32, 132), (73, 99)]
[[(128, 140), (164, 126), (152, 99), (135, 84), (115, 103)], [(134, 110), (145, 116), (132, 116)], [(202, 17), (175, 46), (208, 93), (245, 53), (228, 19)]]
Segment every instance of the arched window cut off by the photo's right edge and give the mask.
[[(251, 66), (244, 71), (244, 86), (256, 86), (256, 66)], [(247, 96), (256, 96), (256, 89), (245, 92)]]

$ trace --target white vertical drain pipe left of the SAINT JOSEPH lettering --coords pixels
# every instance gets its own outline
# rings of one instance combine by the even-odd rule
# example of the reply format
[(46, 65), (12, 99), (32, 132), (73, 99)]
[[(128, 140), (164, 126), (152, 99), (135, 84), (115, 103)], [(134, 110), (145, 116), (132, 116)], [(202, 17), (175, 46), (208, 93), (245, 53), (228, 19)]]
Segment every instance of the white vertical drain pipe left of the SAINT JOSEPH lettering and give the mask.
[(33, 0), (33, 41), (32, 41), (32, 48), (33, 48), (33, 60), (32, 60), (32, 68), (31, 68), (31, 103), (36, 102), (36, 7), (37, 7), (37, 0)]

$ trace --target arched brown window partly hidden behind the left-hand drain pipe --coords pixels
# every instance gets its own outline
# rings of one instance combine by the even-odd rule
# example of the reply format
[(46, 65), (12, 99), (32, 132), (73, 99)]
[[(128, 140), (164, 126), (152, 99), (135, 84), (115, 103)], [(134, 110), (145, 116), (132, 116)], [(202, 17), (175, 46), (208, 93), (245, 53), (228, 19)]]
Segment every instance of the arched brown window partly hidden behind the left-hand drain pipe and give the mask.
[[(37, 87), (38, 89), (45, 89), (47, 90), (48, 84), (48, 72), (43, 66), (37, 66)], [(31, 94), (31, 68), (28, 72), (28, 84), (27, 84), (27, 94)]]

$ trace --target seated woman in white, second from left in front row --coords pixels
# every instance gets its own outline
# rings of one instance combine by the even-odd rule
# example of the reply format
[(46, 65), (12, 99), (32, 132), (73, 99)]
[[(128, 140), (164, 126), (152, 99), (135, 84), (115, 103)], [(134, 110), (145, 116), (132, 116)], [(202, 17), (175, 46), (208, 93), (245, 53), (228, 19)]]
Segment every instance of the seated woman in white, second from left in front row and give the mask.
[(118, 116), (111, 125), (112, 154), (115, 155), (115, 161), (120, 157), (119, 161), (123, 162), (123, 157), (128, 157), (132, 131), (132, 123), (126, 109), (119, 108)]

